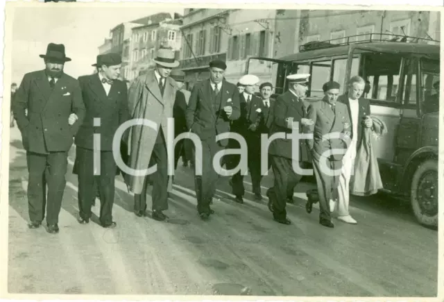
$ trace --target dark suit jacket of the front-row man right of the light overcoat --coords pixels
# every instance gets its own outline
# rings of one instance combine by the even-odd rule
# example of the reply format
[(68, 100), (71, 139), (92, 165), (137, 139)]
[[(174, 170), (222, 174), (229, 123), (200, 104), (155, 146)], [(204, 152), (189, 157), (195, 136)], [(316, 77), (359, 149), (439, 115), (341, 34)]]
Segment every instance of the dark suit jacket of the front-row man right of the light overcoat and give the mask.
[[(219, 93), (222, 94), (221, 104), (219, 108), (214, 108), (211, 99), (210, 79), (196, 83), (191, 91), (191, 97), (185, 112), (187, 129), (196, 133), (200, 140), (214, 140), (216, 135), (229, 132), (230, 121), (239, 119), (241, 115), (237, 87), (223, 80)], [(223, 107), (228, 105), (232, 106), (230, 117), (223, 111)], [(219, 144), (226, 146), (228, 141), (221, 140)]]

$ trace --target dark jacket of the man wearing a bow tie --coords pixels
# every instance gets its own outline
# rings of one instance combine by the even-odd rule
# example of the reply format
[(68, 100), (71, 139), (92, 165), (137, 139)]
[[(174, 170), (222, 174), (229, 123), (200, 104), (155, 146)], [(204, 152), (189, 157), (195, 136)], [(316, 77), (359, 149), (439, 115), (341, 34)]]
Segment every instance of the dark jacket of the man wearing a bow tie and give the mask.
[[(78, 78), (85, 103), (86, 115), (76, 135), (76, 146), (93, 149), (93, 135), (100, 134), (101, 151), (112, 151), (112, 140), (117, 128), (128, 120), (128, 97), (126, 83), (114, 80), (108, 96), (100, 81), (99, 74)], [(94, 118), (101, 119), (100, 126), (94, 126)]]

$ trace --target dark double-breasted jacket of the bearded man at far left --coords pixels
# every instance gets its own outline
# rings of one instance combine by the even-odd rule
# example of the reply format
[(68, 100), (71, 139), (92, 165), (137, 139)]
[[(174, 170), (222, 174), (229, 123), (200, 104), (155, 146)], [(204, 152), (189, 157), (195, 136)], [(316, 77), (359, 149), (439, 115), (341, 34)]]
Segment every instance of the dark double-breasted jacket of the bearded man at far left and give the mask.
[[(12, 111), (26, 151), (41, 154), (68, 151), (85, 118), (78, 81), (62, 74), (51, 90), (44, 70), (24, 75), (12, 102)], [(71, 113), (78, 117), (73, 125), (68, 123)]]

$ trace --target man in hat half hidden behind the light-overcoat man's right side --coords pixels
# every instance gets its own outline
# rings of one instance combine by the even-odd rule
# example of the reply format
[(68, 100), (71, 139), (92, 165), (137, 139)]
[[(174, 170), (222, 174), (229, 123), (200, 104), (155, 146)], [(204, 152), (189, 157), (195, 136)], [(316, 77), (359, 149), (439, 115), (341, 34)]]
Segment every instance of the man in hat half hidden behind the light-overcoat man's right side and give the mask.
[[(189, 97), (191, 92), (185, 89), (185, 72), (173, 69), (170, 74), (171, 78), (176, 81), (178, 91), (176, 92), (176, 100), (173, 106), (174, 117), (174, 135), (177, 137), (181, 133), (187, 132), (187, 121), (185, 119), (185, 110), (187, 110)], [(189, 158), (191, 158), (191, 145), (189, 140), (184, 139), (178, 141), (174, 149), (174, 169), (177, 169), (179, 158), (182, 157), (184, 167), (187, 167)]]

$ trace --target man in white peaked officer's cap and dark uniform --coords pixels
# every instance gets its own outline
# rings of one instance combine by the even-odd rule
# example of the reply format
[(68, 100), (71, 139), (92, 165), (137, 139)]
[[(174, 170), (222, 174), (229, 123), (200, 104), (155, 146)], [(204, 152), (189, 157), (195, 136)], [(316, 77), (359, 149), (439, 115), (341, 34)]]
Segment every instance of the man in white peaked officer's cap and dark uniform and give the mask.
[[(309, 126), (312, 121), (306, 118), (303, 99), (307, 92), (309, 74), (292, 74), (287, 76), (289, 91), (280, 95), (275, 102), (273, 122), (270, 135), (274, 133), (291, 134), (293, 131), (302, 133), (302, 126)], [(302, 125), (302, 126), (300, 126)], [(268, 208), (273, 212), (273, 218), (280, 224), (291, 224), (287, 218), (285, 206), (289, 192), (293, 196), (293, 188), (302, 178), (293, 167), (301, 167), (301, 162), (307, 162), (308, 150), (305, 140), (299, 140), (298, 158), (293, 152), (291, 138), (278, 138), (271, 142), (268, 153), (271, 155), (271, 167), (275, 177), (274, 186), (268, 189)]]

